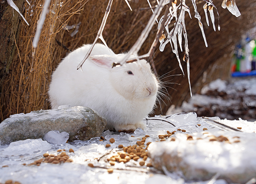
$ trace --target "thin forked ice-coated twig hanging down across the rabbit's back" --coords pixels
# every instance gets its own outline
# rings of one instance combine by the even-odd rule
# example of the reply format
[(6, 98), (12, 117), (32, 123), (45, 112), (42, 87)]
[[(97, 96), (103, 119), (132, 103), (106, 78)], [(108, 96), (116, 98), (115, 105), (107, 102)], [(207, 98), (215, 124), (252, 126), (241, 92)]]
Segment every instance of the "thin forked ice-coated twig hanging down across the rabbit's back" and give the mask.
[(101, 25), (100, 25), (100, 28), (99, 28), (99, 31), (97, 33), (97, 36), (93, 42), (93, 44), (91, 45), (91, 48), (88, 50), (87, 54), (85, 55), (84, 59), (80, 62), (80, 64), (77, 66), (77, 70), (78, 69), (81, 69), (82, 70), (82, 65), (85, 63), (85, 60), (89, 57), (89, 55), (91, 54), (91, 51), (94, 47), (94, 45), (96, 44), (97, 40), (98, 39), (101, 39), (101, 41), (104, 43), (105, 46), (107, 46), (107, 43), (105, 42), (105, 39), (103, 38), (102, 36), (102, 33), (103, 33), (103, 30), (105, 28), (105, 25), (106, 25), (106, 22), (107, 22), (107, 17), (109, 16), (109, 12), (110, 12), (110, 9), (111, 9), (111, 5), (112, 5), (112, 2), (113, 0), (109, 0), (109, 3), (107, 5), (107, 9), (106, 9), (106, 12), (105, 12), (105, 15), (103, 17), (103, 20), (101, 22)]

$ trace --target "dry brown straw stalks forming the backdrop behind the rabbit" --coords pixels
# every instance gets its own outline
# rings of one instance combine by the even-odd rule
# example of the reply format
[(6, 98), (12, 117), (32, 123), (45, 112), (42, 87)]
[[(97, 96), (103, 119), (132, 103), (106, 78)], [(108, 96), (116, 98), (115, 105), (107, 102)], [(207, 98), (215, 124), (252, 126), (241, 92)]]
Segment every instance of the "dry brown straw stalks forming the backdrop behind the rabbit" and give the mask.
[[(197, 20), (194, 18), (190, 20), (186, 15), (192, 87), (209, 65), (223, 57), (225, 53), (230, 53), (232, 45), (240, 39), (240, 35), (245, 33), (245, 30), (255, 26), (256, 16), (253, 12), (256, 9), (256, 2), (254, 0), (237, 0), (237, 6), (242, 14), (240, 18), (231, 15), (227, 9), (222, 9), (221, 2), (222, 0), (214, 1), (220, 14), (221, 27), (220, 32), (214, 32), (212, 27), (208, 28), (205, 22), (203, 12), (205, 2), (197, 1), (198, 11), (204, 23), (208, 48), (205, 48)], [(16, 39), (16, 53), (9, 75), (5, 77), (1, 86), (1, 120), (8, 118), (11, 114), (49, 109), (47, 91), (52, 71), (69, 52), (68, 50), (74, 50), (82, 44), (93, 42), (106, 11), (107, 3), (107, 0), (52, 0), (38, 46), (35, 49), (32, 47), (32, 40), (44, 0), (33, 0), (31, 6), (26, 4), (22, 14), (30, 26), (21, 20), (22, 26), (20, 26), (19, 37)], [(129, 3), (133, 11), (130, 11), (125, 0), (114, 0), (103, 31), (103, 37), (115, 53), (125, 52), (131, 48), (152, 15), (146, 0), (131, 0)], [(151, 5), (156, 5), (156, 1), (151, 1)], [(194, 17), (193, 7), (189, 2), (187, 5), (190, 7), (191, 16)], [(18, 16), (18, 14), (14, 14)], [(78, 32), (75, 34), (77, 30)], [(140, 55), (147, 53), (156, 31), (155, 25), (140, 49)], [(180, 56), (183, 55), (184, 53), (180, 54)], [(160, 76), (174, 69), (177, 70), (168, 75), (181, 74), (176, 56), (171, 52), (169, 45), (166, 46), (163, 53), (157, 50), (154, 60)], [(185, 62), (183, 63), (185, 68)], [(163, 81), (169, 79), (163, 79)], [(187, 77), (176, 76), (173, 79), (172, 82), (181, 83), (181, 85), (171, 84), (169, 86), (176, 90), (167, 88), (167, 91), (173, 97), (172, 103), (179, 104), (189, 96)], [(163, 104), (163, 112), (156, 110), (157, 114), (164, 114), (167, 111), (170, 103), (168, 99), (165, 99), (165, 102), (167, 104)]]

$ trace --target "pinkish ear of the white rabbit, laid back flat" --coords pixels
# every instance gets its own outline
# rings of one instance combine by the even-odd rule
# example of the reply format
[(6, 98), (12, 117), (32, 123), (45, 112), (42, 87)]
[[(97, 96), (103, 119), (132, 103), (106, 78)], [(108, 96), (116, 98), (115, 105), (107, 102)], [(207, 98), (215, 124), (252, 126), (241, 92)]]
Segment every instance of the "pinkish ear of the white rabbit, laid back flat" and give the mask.
[(117, 61), (116, 57), (111, 55), (93, 55), (90, 56), (89, 59), (91, 59), (94, 64), (109, 70), (112, 68), (112, 64)]

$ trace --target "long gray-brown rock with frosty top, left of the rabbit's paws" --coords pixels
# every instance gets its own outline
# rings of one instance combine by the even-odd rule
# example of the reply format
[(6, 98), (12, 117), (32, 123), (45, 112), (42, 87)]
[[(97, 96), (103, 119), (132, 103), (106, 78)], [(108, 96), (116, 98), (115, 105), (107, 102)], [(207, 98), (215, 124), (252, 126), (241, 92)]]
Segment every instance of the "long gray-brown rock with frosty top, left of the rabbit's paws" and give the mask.
[(69, 133), (69, 141), (89, 140), (104, 131), (107, 121), (88, 107), (40, 110), (15, 114), (0, 123), (0, 144), (43, 138), (51, 130)]

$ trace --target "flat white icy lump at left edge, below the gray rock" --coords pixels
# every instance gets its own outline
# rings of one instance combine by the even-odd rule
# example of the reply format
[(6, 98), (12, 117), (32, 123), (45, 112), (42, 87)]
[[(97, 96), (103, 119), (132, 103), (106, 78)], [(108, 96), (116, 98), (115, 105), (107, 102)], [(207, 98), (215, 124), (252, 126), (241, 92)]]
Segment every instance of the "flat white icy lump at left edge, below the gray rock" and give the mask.
[(36, 152), (47, 151), (51, 145), (42, 139), (26, 139), (11, 142), (9, 147), (2, 151), (2, 156), (20, 156), (24, 154), (34, 154)]

